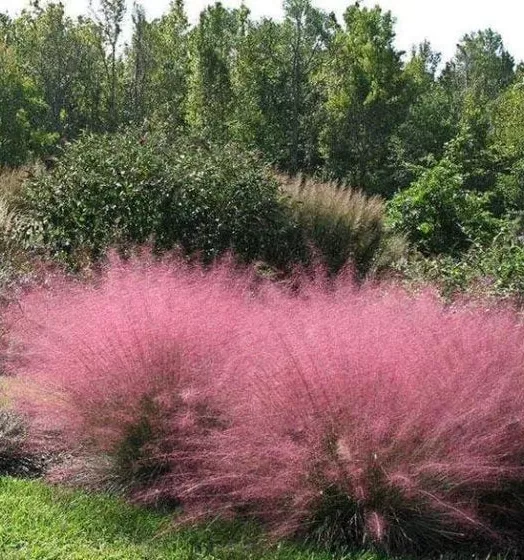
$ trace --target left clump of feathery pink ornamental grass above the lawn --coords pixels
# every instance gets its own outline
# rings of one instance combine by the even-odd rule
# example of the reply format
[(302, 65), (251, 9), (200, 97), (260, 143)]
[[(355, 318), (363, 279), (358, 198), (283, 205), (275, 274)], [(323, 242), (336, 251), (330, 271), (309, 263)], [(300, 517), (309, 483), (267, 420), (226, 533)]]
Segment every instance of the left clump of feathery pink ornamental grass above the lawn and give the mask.
[(54, 279), (10, 310), (33, 443), (75, 456), (55, 479), (116, 480), (135, 498), (176, 499), (206, 432), (225, 421), (218, 388), (248, 308), (242, 281), (227, 264), (204, 273), (178, 260), (113, 259), (94, 284)]

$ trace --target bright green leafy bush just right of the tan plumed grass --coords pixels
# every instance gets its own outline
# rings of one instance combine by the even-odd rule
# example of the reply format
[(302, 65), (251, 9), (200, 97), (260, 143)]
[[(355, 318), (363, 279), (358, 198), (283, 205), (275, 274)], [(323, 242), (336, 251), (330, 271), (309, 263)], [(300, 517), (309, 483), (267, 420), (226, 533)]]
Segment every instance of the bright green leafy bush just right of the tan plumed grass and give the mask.
[(388, 208), (389, 224), (424, 254), (458, 254), (497, 231), (489, 194), (464, 188), (460, 167), (444, 159), (427, 170)]

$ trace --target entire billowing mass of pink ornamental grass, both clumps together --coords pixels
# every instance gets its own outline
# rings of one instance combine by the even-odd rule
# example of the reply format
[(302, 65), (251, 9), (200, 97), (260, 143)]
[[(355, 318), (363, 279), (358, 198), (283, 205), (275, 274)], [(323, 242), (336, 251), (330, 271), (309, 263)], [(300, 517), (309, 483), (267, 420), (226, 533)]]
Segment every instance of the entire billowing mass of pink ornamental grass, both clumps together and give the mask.
[(33, 433), (81, 445), (136, 499), (324, 543), (522, 545), (524, 326), (510, 309), (131, 262), (9, 316)]

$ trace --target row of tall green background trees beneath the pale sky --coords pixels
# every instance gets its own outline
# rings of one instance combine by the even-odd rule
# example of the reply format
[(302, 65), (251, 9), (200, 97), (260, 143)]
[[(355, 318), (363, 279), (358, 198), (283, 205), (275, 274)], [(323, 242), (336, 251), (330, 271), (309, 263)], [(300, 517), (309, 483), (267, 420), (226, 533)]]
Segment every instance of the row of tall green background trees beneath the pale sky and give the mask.
[(254, 21), (218, 2), (193, 25), (176, 0), (153, 21), (134, 6), (123, 46), (127, 4), (93, 1), (75, 19), (33, 1), (0, 17), (0, 165), (86, 131), (161, 123), (387, 197), (447, 155), (468, 189), (495, 191), (497, 216), (504, 207), (496, 185), (522, 159), (512, 147), (521, 78), (493, 30), (466, 34), (450, 61), (428, 42), (404, 60), (394, 16), (379, 7), (354, 2), (338, 22), (311, 0), (286, 0), (282, 20)]

